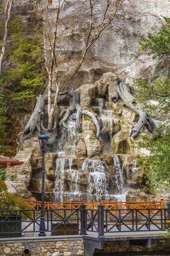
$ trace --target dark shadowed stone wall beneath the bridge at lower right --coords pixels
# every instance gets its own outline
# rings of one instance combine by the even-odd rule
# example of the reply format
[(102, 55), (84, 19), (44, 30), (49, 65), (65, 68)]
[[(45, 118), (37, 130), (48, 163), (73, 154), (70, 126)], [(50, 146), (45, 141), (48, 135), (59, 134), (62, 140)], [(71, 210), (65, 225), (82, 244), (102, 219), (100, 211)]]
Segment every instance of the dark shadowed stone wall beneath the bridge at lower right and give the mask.
[[(152, 252), (170, 252), (170, 239), (151, 239), (151, 248), (137, 246), (130, 244), (129, 240), (124, 241), (105, 241), (103, 244), (103, 250), (96, 249), (96, 254), (105, 253), (146, 253), (148, 255)], [(170, 255), (170, 253), (168, 254)]]

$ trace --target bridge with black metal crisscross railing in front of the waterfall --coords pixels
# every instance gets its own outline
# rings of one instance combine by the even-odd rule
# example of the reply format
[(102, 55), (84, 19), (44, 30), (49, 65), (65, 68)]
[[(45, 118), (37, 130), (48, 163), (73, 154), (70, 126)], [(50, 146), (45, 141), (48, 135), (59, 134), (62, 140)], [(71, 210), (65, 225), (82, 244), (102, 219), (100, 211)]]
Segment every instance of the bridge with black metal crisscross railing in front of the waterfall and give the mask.
[[(27, 200), (28, 201), (28, 200)], [(37, 237), (41, 226), (41, 202), (28, 201), (31, 210), (0, 211), (1, 238)], [(151, 247), (170, 227), (170, 208), (157, 202), (45, 202), (47, 237), (82, 237), (85, 255), (103, 249), (105, 241), (129, 240)], [(45, 238), (43, 238), (45, 239)], [(52, 241), (52, 240), (51, 240)], [(165, 253), (166, 254), (166, 253)]]

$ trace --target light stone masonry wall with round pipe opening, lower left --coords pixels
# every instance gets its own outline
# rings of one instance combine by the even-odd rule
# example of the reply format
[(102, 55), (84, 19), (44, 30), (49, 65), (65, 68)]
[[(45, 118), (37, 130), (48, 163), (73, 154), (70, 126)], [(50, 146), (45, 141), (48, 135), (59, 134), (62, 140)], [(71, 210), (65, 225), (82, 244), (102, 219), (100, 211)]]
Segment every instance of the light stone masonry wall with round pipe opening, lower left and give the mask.
[(0, 244), (0, 256), (23, 256), (25, 247), (34, 256), (76, 256), (84, 253), (83, 240), (19, 242)]

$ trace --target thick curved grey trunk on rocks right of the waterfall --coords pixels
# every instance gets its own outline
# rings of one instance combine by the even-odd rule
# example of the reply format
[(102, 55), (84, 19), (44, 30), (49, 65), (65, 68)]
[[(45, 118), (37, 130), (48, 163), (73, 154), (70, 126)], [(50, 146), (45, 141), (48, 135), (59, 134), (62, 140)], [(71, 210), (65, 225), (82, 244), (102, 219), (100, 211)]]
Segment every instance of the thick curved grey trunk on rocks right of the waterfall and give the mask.
[(145, 125), (147, 121), (147, 113), (144, 109), (142, 109), (141, 105), (136, 102), (136, 99), (130, 93), (129, 84), (125, 84), (125, 82), (116, 82), (116, 90), (119, 94), (122, 101), (125, 105), (131, 110), (135, 111), (139, 114), (139, 121), (135, 125), (135, 127), (130, 131), (129, 137), (136, 137), (141, 131), (142, 127)]

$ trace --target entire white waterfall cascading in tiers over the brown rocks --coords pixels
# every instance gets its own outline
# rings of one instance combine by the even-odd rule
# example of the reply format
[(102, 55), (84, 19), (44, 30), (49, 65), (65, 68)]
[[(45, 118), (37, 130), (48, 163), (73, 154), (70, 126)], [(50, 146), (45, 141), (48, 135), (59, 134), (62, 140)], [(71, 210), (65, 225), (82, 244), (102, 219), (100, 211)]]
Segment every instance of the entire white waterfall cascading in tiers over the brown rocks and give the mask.
[(119, 157), (111, 156), (113, 135), (120, 130), (120, 120), (116, 118), (109, 102), (104, 99), (97, 100), (99, 109), (95, 108), (99, 111), (100, 139), (103, 140), (104, 154), (110, 155), (112, 164), (114, 162), (115, 175), (109, 161), (107, 165), (100, 159), (86, 158), (82, 163), (83, 159), (76, 158), (78, 136), (76, 136), (76, 113), (74, 112), (66, 123), (68, 128), (60, 127), (58, 131), (55, 201), (126, 201), (127, 189), (131, 189), (126, 178), (132, 179), (133, 174), (136, 173), (136, 162), (134, 161), (133, 169), (128, 170), (127, 155), (124, 155), (122, 167)]

